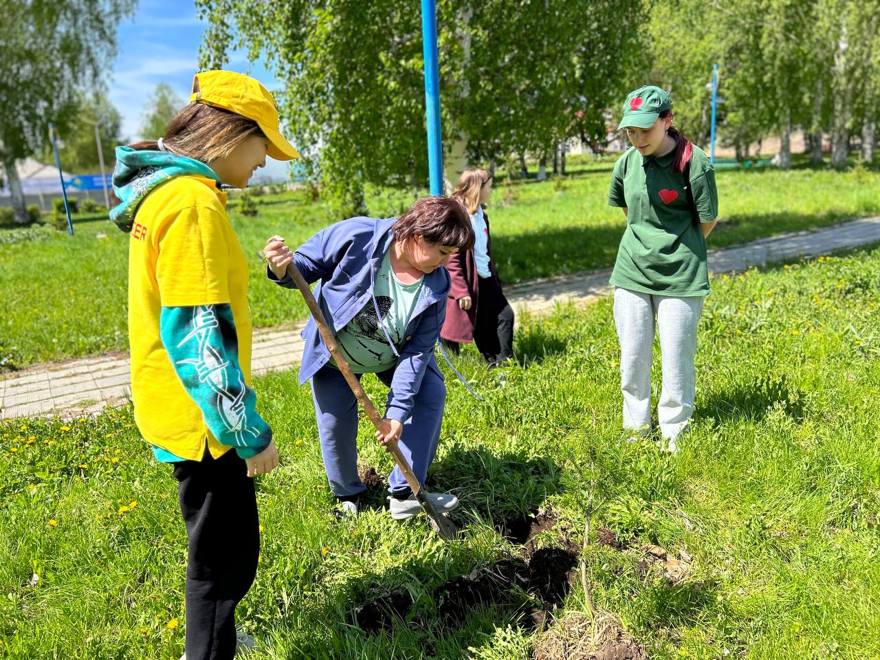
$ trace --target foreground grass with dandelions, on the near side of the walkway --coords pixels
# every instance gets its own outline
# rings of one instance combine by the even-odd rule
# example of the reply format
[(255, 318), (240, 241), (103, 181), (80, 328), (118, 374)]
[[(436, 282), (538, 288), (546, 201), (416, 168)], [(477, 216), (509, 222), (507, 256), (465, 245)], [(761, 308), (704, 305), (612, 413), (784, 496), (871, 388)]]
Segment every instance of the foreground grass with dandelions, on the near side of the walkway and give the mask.
[[(439, 588), (519, 552), (493, 530), (512, 514), (552, 511), (559, 522), (539, 546), (561, 533), (579, 545), (592, 474), (592, 529), (629, 539), (623, 550), (590, 539), (592, 597), (650, 657), (880, 657), (877, 272), (880, 248), (716, 278), (695, 423), (676, 457), (623, 442), (608, 299), (523, 319), (504, 385), (466, 348), (460, 366), (486, 402), (447, 378), (431, 469), (463, 502), (454, 542), (380, 509), (334, 522), (308, 389), (294, 371), (257, 378), (282, 466), (259, 480), (260, 570), (240, 620), (269, 658), (524, 660), (534, 633), (521, 608), (444, 622)], [(386, 475), (391, 460), (370, 436), (364, 422), (362, 461)], [(184, 534), (171, 471), (130, 410), (3, 422), (0, 656), (176, 660)], [(640, 569), (649, 543), (693, 556), (683, 583)], [(350, 622), (382, 590), (408, 590), (414, 605), (365, 634)], [(582, 602), (576, 581), (563, 606)]]

